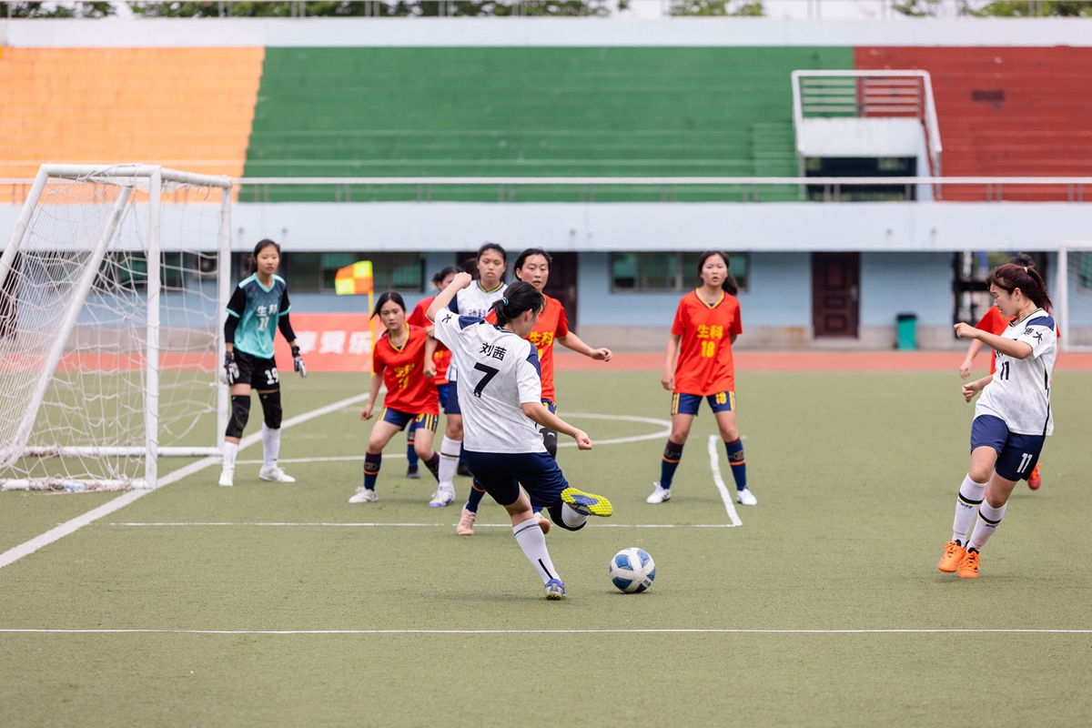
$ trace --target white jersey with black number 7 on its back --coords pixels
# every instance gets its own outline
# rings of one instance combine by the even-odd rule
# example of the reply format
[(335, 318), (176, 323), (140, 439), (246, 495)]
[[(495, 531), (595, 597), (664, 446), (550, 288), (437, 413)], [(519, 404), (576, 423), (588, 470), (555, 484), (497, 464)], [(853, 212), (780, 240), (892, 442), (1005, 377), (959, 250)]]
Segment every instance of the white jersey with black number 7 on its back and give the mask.
[(507, 329), (475, 317), (440, 311), (436, 338), (451, 349), (463, 410), (463, 442), (475, 453), (544, 453), (538, 426), (523, 403), (542, 402), (538, 350)]

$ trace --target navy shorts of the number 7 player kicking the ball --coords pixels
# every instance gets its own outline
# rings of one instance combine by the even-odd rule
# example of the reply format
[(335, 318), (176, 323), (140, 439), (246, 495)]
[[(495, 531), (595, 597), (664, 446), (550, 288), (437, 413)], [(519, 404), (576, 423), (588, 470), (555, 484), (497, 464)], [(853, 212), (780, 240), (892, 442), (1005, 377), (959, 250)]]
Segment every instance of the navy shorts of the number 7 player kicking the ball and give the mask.
[(466, 451), (466, 467), (474, 484), (501, 505), (520, 498), (520, 486), (531, 497), (531, 505), (549, 509), (561, 505), (561, 491), (569, 482), (549, 453), (475, 453)]

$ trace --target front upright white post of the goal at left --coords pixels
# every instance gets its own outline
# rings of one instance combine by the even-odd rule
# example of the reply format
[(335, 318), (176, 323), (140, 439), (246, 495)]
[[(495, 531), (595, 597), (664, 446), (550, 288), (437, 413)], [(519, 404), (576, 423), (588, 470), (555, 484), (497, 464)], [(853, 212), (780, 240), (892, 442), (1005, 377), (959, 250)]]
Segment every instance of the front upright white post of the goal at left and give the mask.
[(159, 207), (163, 178), (152, 172), (147, 186), (147, 346), (144, 382), (144, 480), (146, 488), (158, 482), (159, 454)]

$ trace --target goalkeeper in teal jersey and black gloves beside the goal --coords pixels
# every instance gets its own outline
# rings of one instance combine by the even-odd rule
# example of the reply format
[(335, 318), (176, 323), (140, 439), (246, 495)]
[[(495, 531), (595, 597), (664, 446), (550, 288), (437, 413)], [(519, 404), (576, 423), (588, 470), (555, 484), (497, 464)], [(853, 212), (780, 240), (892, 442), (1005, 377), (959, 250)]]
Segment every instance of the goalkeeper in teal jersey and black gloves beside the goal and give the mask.
[(250, 391), (258, 391), (262, 403), (262, 469), (258, 477), (273, 482), (295, 482), (277, 467), (281, 450), (281, 377), (273, 360), (273, 337), (276, 330), (292, 346), (293, 366), (300, 377), (307, 368), (296, 346), (296, 334), (288, 323), (288, 286), (274, 275), (281, 264), (281, 247), (262, 240), (254, 247), (254, 273), (239, 282), (227, 303), (224, 323), (224, 370), (232, 387), (232, 411), (224, 438), (224, 470), (219, 485), (235, 485), (235, 458), (239, 439), (250, 417)]

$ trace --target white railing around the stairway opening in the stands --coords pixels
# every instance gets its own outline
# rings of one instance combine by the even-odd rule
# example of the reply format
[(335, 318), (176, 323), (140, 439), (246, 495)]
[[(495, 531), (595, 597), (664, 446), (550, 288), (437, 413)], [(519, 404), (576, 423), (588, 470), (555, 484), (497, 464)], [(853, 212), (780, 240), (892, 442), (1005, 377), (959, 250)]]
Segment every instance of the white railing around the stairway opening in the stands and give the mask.
[(940, 126), (928, 71), (793, 71), (796, 154), (808, 156), (800, 130), (816, 117), (914, 118), (925, 128), (929, 172), (940, 176)]

